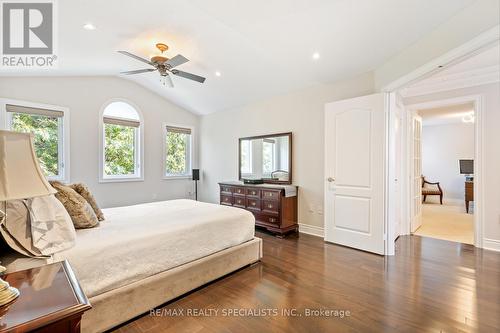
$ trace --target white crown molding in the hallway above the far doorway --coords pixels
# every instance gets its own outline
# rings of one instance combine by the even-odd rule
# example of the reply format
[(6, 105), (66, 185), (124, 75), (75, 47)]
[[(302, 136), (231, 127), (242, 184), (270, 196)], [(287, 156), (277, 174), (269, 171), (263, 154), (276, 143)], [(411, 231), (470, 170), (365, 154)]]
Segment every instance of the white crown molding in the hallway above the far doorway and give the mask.
[(471, 71), (425, 79), (411, 87), (404, 88), (401, 95), (413, 97), (442, 91), (481, 86), (500, 81), (500, 65)]

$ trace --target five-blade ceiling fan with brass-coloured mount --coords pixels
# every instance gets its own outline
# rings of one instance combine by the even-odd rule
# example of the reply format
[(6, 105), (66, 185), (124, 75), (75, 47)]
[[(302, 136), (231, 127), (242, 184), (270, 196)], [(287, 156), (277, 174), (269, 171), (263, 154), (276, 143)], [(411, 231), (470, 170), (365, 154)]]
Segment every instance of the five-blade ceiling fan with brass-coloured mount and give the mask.
[(158, 50), (160, 50), (161, 54), (152, 57), (151, 60), (141, 58), (141, 57), (136, 56), (135, 54), (132, 54), (132, 53), (127, 52), (127, 51), (118, 51), (121, 54), (132, 57), (136, 60), (142, 61), (142, 62), (154, 67), (154, 68), (145, 68), (145, 69), (137, 69), (134, 71), (121, 72), (120, 74), (133, 75), (133, 74), (158, 71), (160, 73), (161, 82), (164, 85), (169, 86), (169, 87), (174, 86), (174, 83), (172, 81), (170, 74), (177, 75), (177, 76), (183, 77), (185, 79), (193, 80), (193, 81), (196, 81), (199, 83), (205, 82), (205, 78), (202, 76), (191, 74), (188, 72), (183, 72), (183, 71), (180, 71), (178, 69), (174, 69), (174, 67), (182, 65), (182, 64), (189, 61), (183, 55), (178, 54), (175, 57), (169, 59), (163, 55), (163, 52), (168, 50), (168, 46), (166, 44), (158, 43), (158, 44), (156, 44), (156, 48)]

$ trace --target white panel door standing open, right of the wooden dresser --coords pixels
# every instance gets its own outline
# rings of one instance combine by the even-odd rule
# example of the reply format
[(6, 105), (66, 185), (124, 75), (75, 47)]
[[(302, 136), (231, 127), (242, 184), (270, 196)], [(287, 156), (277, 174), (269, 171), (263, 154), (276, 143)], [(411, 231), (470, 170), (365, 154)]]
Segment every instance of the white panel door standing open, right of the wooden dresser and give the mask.
[(384, 254), (385, 96), (325, 107), (325, 240)]

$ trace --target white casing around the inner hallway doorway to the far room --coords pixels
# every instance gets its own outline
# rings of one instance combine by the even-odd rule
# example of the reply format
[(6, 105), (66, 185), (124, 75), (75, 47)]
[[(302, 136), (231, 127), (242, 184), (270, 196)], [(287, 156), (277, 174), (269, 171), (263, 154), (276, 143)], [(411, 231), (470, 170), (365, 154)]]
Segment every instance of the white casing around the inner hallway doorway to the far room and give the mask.
[[(484, 223), (484, 106), (482, 95), (460, 96), (443, 100), (430, 101), (425, 103), (411, 104), (406, 106), (407, 112), (414, 110), (424, 110), (438, 108), (449, 105), (464, 103), (474, 104), (474, 245), (483, 247), (483, 223)], [(407, 158), (411, 160), (410, 150), (407, 151)], [(407, 178), (407, 177), (405, 177)], [(402, 198), (407, 205), (410, 205), (409, 198)], [(407, 223), (409, 223), (407, 221)], [(405, 228), (406, 230), (406, 228)]]

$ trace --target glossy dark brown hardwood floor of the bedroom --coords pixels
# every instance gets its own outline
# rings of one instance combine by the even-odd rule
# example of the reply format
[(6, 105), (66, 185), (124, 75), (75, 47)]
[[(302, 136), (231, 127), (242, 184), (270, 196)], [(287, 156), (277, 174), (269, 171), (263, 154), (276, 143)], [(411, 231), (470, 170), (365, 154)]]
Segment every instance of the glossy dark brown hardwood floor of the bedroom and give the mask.
[[(395, 256), (382, 257), (304, 234), (257, 236), (264, 240), (261, 263), (161, 308), (182, 309), (181, 316), (147, 314), (116, 332), (500, 331), (499, 253), (404, 236)], [(187, 316), (188, 309), (207, 316)], [(228, 309), (249, 309), (254, 316), (224, 316)], [(301, 316), (284, 316), (282, 309), (297, 309)], [(307, 317), (306, 309), (350, 315)]]

